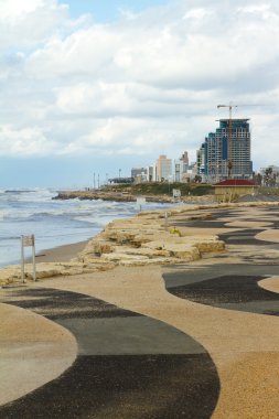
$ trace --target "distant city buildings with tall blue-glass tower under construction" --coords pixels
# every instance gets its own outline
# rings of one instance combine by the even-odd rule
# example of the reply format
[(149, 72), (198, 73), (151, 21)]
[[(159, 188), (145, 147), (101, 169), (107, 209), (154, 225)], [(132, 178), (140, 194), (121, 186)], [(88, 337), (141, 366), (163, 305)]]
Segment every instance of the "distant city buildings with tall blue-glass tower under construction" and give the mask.
[[(279, 168), (270, 165), (253, 172), (249, 119), (221, 119), (196, 151), (196, 161), (189, 161), (184, 151), (175, 160), (165, 154), (147, 168), (132, 168), (127, 182), (204, 182), (250, 181), (258, 185), (279, 186)], [(111, 180), (124, 182), (124, 178)]]

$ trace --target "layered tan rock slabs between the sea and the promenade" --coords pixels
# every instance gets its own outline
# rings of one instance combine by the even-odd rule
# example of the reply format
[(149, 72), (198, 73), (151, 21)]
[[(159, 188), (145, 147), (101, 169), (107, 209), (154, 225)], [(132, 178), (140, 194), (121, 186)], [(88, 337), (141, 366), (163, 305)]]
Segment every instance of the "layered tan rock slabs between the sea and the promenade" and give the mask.
[[(210, 206), (207, 206), (208, 208)], [(165, 211), (142, 212), (137, 216), (109, 223), (106, 228), (69, 261), (36, 264), (36, 278), (72, 276), (114, 269), (116, 266), (180, 264), (200, 259), (203, 254), (224, 251), (217, 236), (191, 235), (172, 227), (178, 216), (205, 219), (203, 206), (179, 206)], [(25, 265), (25, 277), (32, 280), (32, 265)], [(0, 270), (0, 283), (20, 281), (20, 266)]]

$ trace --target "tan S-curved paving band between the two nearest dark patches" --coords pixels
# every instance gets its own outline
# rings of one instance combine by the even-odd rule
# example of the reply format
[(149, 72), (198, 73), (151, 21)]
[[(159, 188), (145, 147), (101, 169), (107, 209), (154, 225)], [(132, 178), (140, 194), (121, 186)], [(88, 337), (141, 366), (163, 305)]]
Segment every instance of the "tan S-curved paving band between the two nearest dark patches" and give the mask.
[[(194, 265), (192, 269), (200, 268)], [(178, 269), (185, 268), (174, 268)], [(221, 393), (212, 415), (214, 419), (277, 417), (278, 318), (179, 299), (165, 290), (159, 267), (118, 268), (105, 275), (45, 281), (42, 286), (96, 296), (118, 307), (159, 319), (193, 336), (206, 347), (217, 367)], [(259, 379), (262, 379), (264, 386), (259, 385)], [(173, 417), (167, 415), (167, 418)], [(189, 417), (192, 417), (191, 412)]]

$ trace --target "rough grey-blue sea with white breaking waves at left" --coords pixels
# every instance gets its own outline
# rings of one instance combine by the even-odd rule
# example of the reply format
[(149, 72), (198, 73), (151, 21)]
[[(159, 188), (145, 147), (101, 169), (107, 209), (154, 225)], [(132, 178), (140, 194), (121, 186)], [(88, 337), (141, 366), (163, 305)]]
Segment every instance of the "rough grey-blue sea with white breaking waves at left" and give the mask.
[[(116, 218), (139, 212), (135, 202), (53, 200), (56, 190), (0, 190), (0, 267), (19, 264), (21, 236), (34, 235), (36, 254), (62, 245), (87, 240)], [(146, 203), (141, 210), (170, 204)], [(31, 256), (32, 248), (24, 248)]]

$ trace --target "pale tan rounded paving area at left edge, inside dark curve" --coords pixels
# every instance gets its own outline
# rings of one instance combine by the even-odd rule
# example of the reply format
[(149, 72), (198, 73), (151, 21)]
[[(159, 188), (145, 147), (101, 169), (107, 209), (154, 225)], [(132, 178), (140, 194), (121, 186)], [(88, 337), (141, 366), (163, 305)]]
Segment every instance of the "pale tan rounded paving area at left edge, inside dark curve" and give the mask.
[(58, 377), (75, 361), (77, 345), (72, 333), (30, 311), (0, 304), (0, 316), (3, 405)]

